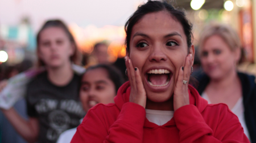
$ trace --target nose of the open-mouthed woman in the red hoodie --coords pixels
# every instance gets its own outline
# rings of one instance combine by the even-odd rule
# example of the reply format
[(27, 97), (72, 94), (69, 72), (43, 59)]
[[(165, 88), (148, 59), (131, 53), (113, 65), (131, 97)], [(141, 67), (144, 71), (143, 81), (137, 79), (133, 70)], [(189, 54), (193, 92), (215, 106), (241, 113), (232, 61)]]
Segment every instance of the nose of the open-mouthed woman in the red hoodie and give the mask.
[(148, 57), (150, 62), (161, 62), (167, 60), (167, 56), (160, 46), (152, 48), (153, 50), (151, 50), (150, 56)]

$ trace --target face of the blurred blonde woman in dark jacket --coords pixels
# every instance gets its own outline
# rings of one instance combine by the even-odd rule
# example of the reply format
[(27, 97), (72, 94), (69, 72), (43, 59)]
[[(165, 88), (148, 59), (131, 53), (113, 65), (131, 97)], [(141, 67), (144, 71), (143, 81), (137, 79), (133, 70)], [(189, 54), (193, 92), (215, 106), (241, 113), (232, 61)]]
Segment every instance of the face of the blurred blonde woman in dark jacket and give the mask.
[(240, 57), (239, 48), (231, 51), (226, 42), (217, 35), (205, 40), (200, 50), (203, 70), (211, 79), (222, 79), (236, 70), (236, 62)]

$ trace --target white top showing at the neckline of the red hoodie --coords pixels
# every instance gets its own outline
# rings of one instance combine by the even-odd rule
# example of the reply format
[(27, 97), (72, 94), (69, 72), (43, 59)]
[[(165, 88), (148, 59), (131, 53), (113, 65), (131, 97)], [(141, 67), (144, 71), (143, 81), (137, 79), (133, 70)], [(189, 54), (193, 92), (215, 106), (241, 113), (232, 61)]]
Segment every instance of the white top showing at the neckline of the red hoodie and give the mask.
[(157, 125), (166, 124), (174, 117), (174, 111), (150, 110), (146, 109), (146, 118), (149, 122)]

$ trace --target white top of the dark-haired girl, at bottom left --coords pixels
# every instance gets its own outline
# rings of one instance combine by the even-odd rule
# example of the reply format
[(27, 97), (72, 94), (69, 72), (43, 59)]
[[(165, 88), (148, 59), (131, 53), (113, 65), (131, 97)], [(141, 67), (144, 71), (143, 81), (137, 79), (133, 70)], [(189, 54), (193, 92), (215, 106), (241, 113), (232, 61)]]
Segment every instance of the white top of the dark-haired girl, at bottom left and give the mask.
[[(80, 123), (82, 123), (82, 119), (80, 120)], [(68, 129), (67, 131), (60, 134), (56, 143), (70, 143), (75, 133), (76, 128)]]

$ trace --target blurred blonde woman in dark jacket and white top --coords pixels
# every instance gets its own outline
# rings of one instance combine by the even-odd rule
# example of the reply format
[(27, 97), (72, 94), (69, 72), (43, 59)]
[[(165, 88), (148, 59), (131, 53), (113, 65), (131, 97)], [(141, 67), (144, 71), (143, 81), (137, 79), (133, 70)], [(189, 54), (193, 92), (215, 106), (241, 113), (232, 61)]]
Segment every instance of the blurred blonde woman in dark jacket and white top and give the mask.
[(240, 39), (230, 26), (208, 25), (201, 34), (199, 54), (205, 73), (198, 77), (199, 94), (208, 103), (225, 103), (238, 116), (245, 135), (256, 142), (255, 77), (238, 72)]

